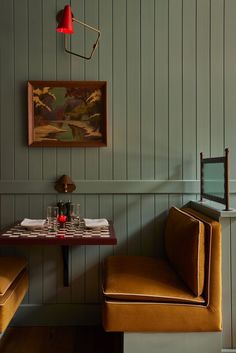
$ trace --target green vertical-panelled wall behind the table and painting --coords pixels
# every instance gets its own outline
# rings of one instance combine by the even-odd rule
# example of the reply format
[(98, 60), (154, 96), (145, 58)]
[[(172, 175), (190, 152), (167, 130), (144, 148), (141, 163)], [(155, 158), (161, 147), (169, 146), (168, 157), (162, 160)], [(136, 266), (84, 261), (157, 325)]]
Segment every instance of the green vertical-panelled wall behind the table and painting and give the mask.
[[(45, 217), (46, 206), (64, 197), (55, 180), (68, 174), (77, 185), (68, 197), (80, 202), (82, 216), (113, 220), (118, 245), (73, 247), (69, 288), (59, 248), (0, 249), (28, 257), (27, 317), (48, 304), (48, 322), (57, 305), (92, 316), (107, 255), (162, 254), (166, 211), (198, 197), (200, 151), (214, 156), (230, 148), (236, 204), (236, 1), (71, 0), (74, 16), (102, 32), (91, 61), (63, 51), (55, 27), (65, 4), (1, 0), (1, 227)], [(79, 26), (71, 45), (89, 50)], [(27, 80), (107, 81), (108, 146), (28, 147)]]

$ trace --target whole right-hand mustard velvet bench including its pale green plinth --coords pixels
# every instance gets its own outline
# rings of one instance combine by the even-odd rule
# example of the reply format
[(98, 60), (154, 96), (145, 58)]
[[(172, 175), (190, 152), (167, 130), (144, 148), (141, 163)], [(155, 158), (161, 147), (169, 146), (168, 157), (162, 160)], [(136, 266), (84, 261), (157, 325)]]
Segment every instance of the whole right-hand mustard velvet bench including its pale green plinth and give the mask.
[(190, 208), (172, 207), (165, 253), (164, 259), (106, 259), (104, 329), (124, 332), (125, 353), (220, 352), (220, 223)]

